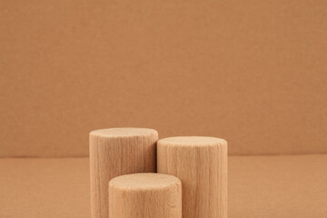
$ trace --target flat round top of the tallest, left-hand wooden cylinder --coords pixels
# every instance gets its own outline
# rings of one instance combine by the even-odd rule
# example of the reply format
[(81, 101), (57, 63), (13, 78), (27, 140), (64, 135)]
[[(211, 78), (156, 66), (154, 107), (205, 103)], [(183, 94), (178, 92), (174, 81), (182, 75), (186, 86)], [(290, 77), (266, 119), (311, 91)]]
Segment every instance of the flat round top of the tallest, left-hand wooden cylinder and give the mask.
[(128, 137), (128, 136), (140, 136), (140, 135), (151, 135), (158, 134), (154, 129), (146, 128), (110, 128), (94, 130), (90, 135), (96, 135), (101, 137)]

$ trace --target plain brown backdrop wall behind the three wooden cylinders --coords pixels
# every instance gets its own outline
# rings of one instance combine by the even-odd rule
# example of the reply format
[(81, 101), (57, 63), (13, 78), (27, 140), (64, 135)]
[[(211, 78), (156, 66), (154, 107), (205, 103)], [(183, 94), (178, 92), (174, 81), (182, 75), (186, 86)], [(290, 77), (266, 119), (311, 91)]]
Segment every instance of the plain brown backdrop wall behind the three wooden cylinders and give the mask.
[(213, 135), (327, 153), (327, 1), (0, 2), (0, 156), (86, 156), (88, 133)]

